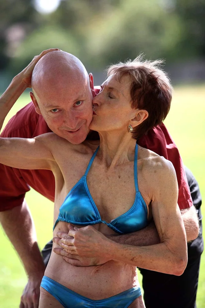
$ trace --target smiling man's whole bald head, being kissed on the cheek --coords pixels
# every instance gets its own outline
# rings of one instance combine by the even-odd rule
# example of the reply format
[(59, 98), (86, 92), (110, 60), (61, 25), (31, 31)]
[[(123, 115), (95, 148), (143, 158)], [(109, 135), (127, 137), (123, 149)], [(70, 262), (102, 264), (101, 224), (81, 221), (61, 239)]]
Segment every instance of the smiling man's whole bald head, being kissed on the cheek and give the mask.
[(34, 67), (30, 97), (49, 128), (73, 144), (85, 140), (93, 119), (93, 75), (75, 56), (51, 51)]

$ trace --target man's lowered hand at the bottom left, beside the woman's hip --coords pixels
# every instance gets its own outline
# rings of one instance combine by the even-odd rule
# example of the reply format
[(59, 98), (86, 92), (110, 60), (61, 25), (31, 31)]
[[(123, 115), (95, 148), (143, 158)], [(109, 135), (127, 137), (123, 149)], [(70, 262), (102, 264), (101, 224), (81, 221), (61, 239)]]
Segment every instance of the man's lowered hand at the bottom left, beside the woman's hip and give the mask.
[(44, 272), (35, 274), (35, 276), (29, 278), (28, 283), (23, 290), (19, 308), (38, 308), (40, 285), (43, 275)]

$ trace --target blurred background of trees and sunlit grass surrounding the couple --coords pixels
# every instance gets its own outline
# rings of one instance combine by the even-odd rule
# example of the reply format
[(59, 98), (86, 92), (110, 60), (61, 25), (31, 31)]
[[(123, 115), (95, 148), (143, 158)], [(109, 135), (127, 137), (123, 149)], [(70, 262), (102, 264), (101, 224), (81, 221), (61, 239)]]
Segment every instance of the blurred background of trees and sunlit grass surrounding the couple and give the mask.
[[(205, 197), (205, 0), (1, 0), (0, 93), (35, 55), (51, 47), (76, 55), (95, 85), (118, 60), (140, 52), (165, 59), (175, 89), (165, 124)], [(4, 125), (29, 102), (26, 92)], [(53, 204), (33, 190), (26, 199), (43, 248), (52, 238)], [(26, 275), (2, 229), (0, 239), (0, 306), (18, 307)], [(204, 294), (202, 255), (198, 308), (205, 307)]]

